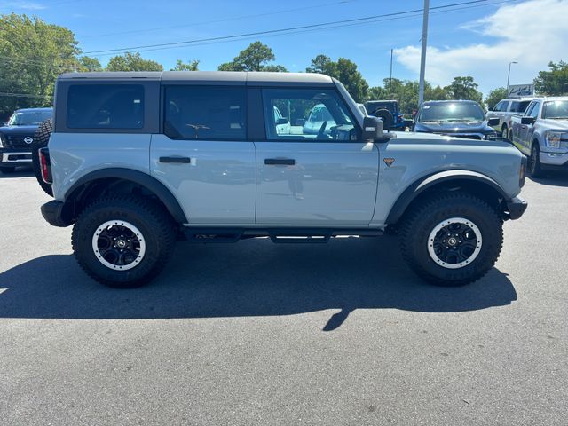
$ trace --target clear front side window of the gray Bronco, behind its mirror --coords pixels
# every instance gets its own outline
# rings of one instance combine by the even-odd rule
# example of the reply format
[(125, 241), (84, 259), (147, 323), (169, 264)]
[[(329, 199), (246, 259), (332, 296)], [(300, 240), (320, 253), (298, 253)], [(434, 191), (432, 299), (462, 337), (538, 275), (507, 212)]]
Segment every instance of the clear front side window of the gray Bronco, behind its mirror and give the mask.
[[(269, 140), (357, 139), (353, 119), (333, 90), (264, 89), (263, 101)], [(271, 114), (275, 109), (282, 115), (280, 120)]]

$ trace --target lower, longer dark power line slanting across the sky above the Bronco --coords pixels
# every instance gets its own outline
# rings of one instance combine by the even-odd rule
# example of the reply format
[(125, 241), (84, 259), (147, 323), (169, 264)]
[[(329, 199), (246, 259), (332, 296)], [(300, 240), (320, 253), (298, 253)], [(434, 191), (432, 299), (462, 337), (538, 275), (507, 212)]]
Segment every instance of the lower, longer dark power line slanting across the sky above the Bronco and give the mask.
[[(489, 0), (471, 0), (471, 1), (468, 1), (468, 2), (461, 2), (461, 3), (454, 3), (454, 4), (446, 4), (446, 5), (442, 5), (442, 6), (436, 6), (436, 7), (430, 8), (430, 10), (446, 9), (448, 7), (460, 6), (460, 5), (464, 5), (464, 4), (479, 4), (479, 3), (485, 3), (487, 1), (489, 1)], [(118, 48), (118, 49), (106, 49), (106, 50), (100, 50), (100, 51), (85, 51), (84, 54), (119, 52), (119, 51), (137, 51), (139, 49), (146, 49), (146, 48), (169, 47), (169, 46), (185, 45), (185, 44), (192, 44), (192, 43), (229, 40), (229, 39), (232, 39), (232, 38), (243, 37), (243, 36), (264, 36), (264, 35), (270, 35), (270, 34), (276, 34), (276, 33), (281, 33), (281, 32), (286, 32), (286, 31), (294, 31), (294, 30), (300, 30), (300, 29), (307, 29), (307, 28), (321, 28), (321, 27), (326, 27), (326, 26), (334, 25), (334, 24), (361, 22), (361, 21), (373, 20), (373, 19), (377, 19), (377, 18), (388, 18), (388, 17), (394, 17), (394, 16), (405, 15), (405, 14), (415, 13), (415, 12), (422, 12), (422, 11), (423, 11), (423, 9), (421, 8), (421, 9), (414, 9), (414, 10), (405, 11), (405, 12), (392, 12), (392, 13), (384, 13), (384, 14), (381, 14), (381, 15), (367, 16), (367, 17), (363, 17), (363, 18), (353, 18), (351, 20), (335, 20), (335, 21), (330, 21), (330, 22), (322, 22), (322, 23), (319, 23), (319, 24), (303, 25), (303, 26), (298, 26), (298, 27), (279, 28), (279, 29), (271, 29), (271, 30), (266, 30), (266, 31), (255, 31), (255, 32), (251, 32), (251, 33), (237, 34), (237, 35), (233, 35), (233, 36), (217, 36), (217, 37), (185, 40), (183, 42), (144, 44), (144, 45), (130, 46), (130, 47), (124, 47), (124, 48)]]

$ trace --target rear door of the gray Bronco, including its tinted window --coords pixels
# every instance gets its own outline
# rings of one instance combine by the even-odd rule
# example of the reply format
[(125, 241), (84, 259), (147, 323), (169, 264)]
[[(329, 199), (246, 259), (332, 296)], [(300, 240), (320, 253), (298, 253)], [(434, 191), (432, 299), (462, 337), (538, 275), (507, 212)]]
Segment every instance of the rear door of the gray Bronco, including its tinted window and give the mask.
[(246, 99), (244, 81), (162, 87), (162, 132), (152, 136), (150, 170), (192, 225), (255, 222), (256, 158), (247, 141)]

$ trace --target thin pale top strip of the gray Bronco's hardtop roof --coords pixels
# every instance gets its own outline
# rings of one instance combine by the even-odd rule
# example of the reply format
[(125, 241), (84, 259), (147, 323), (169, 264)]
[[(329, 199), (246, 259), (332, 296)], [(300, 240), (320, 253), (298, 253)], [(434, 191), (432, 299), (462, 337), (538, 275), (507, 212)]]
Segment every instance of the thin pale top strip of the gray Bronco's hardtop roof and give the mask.
[(332, 85), (331, 77), (315, 73), (267, 73), (238, 71), (140, 71), (140, 72), (102, 72), (102, 73), (66, 73), (59, 75), (60, 80), (160, 80), (162, 82), (216, 82), (233, 84), (255, 83), (318, 83)]

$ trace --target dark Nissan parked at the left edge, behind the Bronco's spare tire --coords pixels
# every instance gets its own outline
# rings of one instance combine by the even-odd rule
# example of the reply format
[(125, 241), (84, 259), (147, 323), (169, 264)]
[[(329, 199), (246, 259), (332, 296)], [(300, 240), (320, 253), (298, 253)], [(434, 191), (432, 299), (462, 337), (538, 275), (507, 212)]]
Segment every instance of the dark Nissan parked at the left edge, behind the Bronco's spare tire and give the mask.
[(16, 166), (31, 166), (32, 143), (40, 122), (53, 116), (53, 108), (18, 109), (0, 127), (0, 172), (12, 173)]

